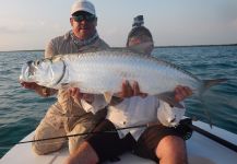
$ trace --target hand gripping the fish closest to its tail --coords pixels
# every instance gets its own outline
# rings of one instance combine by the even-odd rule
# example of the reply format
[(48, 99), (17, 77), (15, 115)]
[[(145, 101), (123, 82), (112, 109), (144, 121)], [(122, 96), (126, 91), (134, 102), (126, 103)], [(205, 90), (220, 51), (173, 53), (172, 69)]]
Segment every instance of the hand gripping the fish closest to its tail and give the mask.
[(187, 98), (190, 95), (192, 95), (192, 90), (189, 89), (188, 86), (181, 86), (181, 85), (176, 86), (175, 101), (177, 103), (183, 101), (185, 98)]

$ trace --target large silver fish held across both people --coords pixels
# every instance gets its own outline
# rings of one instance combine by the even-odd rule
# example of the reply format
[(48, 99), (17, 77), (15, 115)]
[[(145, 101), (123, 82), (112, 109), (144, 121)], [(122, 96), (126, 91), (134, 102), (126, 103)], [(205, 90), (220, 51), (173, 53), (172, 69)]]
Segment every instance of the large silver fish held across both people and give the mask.
[(22, 68), (20, 80), (52, 89), (78, 86), (83, 93), (106, 93), (106, 99), (120, 92), (125, 80), (131, 83), (137, 81), (141, 92), (156, 95), (177, 107), (181, 107), (174, 101), (177, 85), (189, 86), (193, 93), (200, 95), (206, 87), (224, 81), (202, 81), (173, 63), (125, 49), (28, 61)]

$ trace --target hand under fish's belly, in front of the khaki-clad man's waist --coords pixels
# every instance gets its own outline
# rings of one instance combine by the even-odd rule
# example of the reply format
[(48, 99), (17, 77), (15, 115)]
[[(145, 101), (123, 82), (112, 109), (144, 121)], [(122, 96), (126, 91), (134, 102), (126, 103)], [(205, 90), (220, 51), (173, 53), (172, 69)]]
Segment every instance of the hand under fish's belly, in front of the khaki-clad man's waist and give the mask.
[(69, 95), (72, 96), (75, 102), (84, 99), (87, 103), (92, 104), (94, 101), (93, 94), (81, 93), (79, 87), (69, 89)]

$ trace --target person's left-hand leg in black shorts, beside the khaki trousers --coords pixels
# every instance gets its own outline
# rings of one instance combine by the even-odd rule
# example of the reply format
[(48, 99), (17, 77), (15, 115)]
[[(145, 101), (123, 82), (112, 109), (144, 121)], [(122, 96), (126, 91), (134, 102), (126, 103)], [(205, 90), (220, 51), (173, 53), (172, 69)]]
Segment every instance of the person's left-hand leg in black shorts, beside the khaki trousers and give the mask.
[[(100, 131), (100, 132), (99, 132)], [(110, 131), (110, 132), (102, 132)], [(115, 131), (115, 132), (114, 132)], [(131, 134), (120, 139), (109, 120), (102, 121), (67, 160), (67, 164), (93, 164), (117, 157), (134, 143)]]

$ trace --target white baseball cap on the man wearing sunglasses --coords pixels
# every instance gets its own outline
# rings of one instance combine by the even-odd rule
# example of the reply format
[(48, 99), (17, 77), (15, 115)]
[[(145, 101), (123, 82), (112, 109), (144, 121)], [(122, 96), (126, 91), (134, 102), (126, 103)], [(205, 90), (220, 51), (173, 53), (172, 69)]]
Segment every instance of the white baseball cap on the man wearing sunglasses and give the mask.
[(71, 15), (78, 11), (86, 11), (93, 15), (96, 15), (94, 4), (87, 0), (78, 0), (72, 4)]

